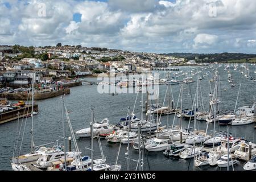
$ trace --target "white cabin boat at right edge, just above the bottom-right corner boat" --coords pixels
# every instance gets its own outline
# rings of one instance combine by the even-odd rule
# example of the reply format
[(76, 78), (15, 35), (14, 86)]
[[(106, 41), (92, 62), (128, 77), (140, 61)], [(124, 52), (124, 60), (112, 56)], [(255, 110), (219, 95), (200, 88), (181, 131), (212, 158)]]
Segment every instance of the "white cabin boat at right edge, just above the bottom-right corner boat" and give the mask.
[(237, 159), (249, 160), (249, 145), (251, 145), (251, 155), (256, 154), (255, 143), (240, 143), (238, 150), (234, 152)]

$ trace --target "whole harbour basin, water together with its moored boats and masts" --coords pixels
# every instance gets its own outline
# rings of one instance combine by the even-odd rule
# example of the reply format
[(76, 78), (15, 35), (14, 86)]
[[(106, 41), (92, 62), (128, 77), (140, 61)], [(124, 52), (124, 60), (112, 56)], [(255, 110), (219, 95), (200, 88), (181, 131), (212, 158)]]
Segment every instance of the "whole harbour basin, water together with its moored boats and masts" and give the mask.
[[(247, 69), (251, 70), (249, 78), (242, 73)], [(252, 92), (255, 82), (250, 78), (253, 70), (254, 65), (249, 64), (182, 67), (174, 72), (154, 71), (160, 74), (159, 81), (151, 82), (153, 77), (148, 72), (145, 82), (136, 78), (117, 79), (117, 84), (103, 82), (73, 87), (70, 94), (62, 94), (63, 98), (38, 100), (33, 106), (38, 114), (31, 115), (30, 110), (30, 117), (20, 114), (19, 122), (1, 125), (2, 138), (10, 139), (1, 143), (4, 149), (1, 168), (65, 170), (67, 163), (69, 171), (91, 170), (93, 161), (93, 170), (226, 170), (224, 161), (230, 158), (230, 169), (247, 170), (246, 165), (251, 164), (247, 162), (253, 161), (256, 154), (256, 108)], [(96, 78), (86, 81), (97, 82)], [(136, 91), (98, 93), (99, 86), (120, 88), (124, 82), (131, 82), (131, 87), (138, 85), (133, 88)], [(153, 83), (159, 85), (156, 100), (142, 92)], [(31, 105), (2, 114), (13, 112), (13, 120), (27, 107)], [(93, 130), (92, 118), (95, 118)], [(21, 121), (28, 122), (24, 125)], [(22, 137), (19, 133), (23, 129), (26, 132)], [(69, 138), (65, 140), (67, 153), (63, 148), (63, 129)], [(31, 139), (38, 145), (32, 146), (32, 153)], [(21, 140), (23, 147), (13, 148)], [(31, 161), (25, 163), (24, 159)], [(139, 166), (138, 161), (141, 161)], [(80, 168), (77, 164), (81, 162), (84, 167)]]

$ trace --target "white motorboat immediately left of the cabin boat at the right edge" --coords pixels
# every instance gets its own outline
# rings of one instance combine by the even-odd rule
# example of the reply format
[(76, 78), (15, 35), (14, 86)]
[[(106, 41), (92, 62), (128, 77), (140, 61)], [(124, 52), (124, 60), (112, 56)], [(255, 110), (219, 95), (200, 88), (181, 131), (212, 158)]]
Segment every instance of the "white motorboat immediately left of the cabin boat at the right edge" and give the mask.
[[(238, 150), (241, 143), (245, 143), (245, 140), (242, 139), (235, 139), (233, 137), (229, 137), (229, 149), (230, 153)], [(224, 154), (228, 154), (228, 139), (221, 139), (221, 145), (217, 147), (217, 152), (223, 152)]]

